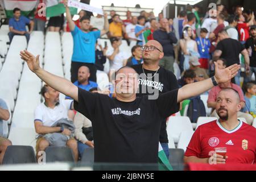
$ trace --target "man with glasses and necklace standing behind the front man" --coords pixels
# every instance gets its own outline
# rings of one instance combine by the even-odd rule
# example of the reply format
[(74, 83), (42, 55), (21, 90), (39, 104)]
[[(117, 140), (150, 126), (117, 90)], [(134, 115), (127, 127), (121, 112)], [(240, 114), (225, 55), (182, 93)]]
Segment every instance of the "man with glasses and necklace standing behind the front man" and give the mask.
[[(164, 56), (163, 47), (156, 40), (149, 40), (141, 47), (143, 64), (133, 65), (132, 68), (139, 74), (139, 92), (137, 96), (166, 93), (179, 88), (174, 73), (159, 67), (159, 61)], [(166, 118), (161, 119), (159, 142), (169, 158), (168, 135)]]

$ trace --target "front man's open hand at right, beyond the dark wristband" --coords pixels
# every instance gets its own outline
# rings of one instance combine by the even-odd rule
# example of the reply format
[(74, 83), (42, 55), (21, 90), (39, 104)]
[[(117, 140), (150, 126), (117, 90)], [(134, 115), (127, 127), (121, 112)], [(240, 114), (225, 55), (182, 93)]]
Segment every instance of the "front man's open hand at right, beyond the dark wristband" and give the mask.
[(233, 64), (230, 67), (225, 69), (218, 69), (218, 65), (216, 62), (214, 62), (214, 65), (215, 65), (214, 77), (217, 83), (224, 83), (231, 80), (231, 78), (237, 75), (240, 69), (240, 65), (238, 64)]

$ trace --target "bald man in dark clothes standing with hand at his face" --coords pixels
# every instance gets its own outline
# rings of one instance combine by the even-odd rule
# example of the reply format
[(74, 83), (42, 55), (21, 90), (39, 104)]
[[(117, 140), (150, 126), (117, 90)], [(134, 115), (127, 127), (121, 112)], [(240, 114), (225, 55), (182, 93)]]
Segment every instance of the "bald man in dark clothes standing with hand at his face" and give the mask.
[(177, 38), (170, 30), (168, 20), (163, 18), (160, 20), (160, 29), (154, 31), (154, 40), (157, 40), (163, 46), (164, 56), (159, 62), (159, 65), (166, 68), (168, 71), (174, 72), (174, 47), (172, 44), (177, 43)]

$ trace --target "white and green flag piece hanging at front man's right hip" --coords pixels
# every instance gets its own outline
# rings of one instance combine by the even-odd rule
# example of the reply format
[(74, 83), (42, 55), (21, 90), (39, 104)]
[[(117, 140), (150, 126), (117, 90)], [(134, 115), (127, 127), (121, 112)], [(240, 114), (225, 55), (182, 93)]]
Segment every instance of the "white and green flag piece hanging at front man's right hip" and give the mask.
[(158, 146), (158, 168), (159, 171), (172, 171), (172, 166), (167, 159), (166, 153), (164, 153), (164, 150), (159, 142)]

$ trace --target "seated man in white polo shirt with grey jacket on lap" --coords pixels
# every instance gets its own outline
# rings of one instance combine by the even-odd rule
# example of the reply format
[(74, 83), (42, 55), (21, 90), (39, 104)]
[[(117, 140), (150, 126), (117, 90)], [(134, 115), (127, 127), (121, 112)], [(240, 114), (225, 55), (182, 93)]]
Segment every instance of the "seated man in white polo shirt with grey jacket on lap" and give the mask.
[[(50, 133), (61, 133), (71, 135), (69, 129), (63, 127), (52, 127), (52, 125), (59, 119), (68, 119), (68, 111), (73, 110), (73, 100), (59, 100), (59, 92), (51, 88), (48, 85), (44, 85), (41, 94), (44, 97), (45, 102), (39, 104), (35, 109), (35, 130), (40, 135)], [(78, 160), (77, 142), (74, 138), (67, 140), (67, 147), (71, 148), (75, 156), (75, 160)], [(44, 137), (39, 137), (36, 142), (36, 154), (37, 158), (39, 151), (45, 151), (49, 146), (49, 141)]]

